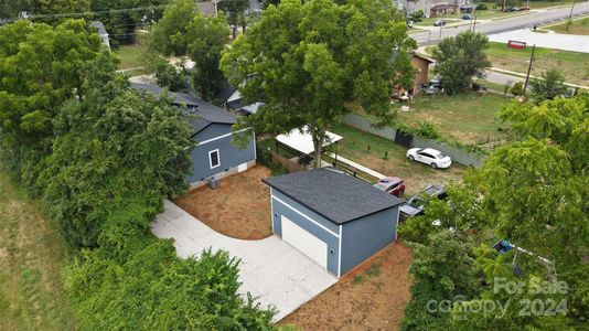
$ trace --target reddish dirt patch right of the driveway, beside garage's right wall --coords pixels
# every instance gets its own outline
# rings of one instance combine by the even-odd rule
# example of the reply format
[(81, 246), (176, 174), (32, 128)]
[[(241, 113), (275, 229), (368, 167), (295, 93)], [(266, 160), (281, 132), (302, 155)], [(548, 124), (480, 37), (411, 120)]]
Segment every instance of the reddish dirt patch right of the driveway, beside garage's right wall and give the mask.
[(411, 253), (399, 239), (279, 324), (301, 330), (398, 330), (410, 299)]

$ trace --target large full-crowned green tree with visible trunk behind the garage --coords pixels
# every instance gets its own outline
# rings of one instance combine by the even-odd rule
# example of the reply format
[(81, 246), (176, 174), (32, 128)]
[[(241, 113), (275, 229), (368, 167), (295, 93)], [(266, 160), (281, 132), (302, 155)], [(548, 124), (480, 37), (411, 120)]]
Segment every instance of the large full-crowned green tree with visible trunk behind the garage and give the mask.
[(319, 164), (328, 129), (356, 103), (386, 121), (393, 86), (410, 85), (403, 15), (390, 1), (282, 1), (237, 38), (222, 68), (247, 102), (265, 104), (242, 126), (285, 132), (307, 126)]

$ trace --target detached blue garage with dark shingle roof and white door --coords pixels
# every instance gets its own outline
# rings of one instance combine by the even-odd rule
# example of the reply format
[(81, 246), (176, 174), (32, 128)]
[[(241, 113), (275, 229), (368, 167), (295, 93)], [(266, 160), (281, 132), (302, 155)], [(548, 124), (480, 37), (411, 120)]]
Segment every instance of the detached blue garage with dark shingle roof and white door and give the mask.
[(333, 168), (263, 180), (272, 231), (340, 277), (397, 238), (403, 200)]

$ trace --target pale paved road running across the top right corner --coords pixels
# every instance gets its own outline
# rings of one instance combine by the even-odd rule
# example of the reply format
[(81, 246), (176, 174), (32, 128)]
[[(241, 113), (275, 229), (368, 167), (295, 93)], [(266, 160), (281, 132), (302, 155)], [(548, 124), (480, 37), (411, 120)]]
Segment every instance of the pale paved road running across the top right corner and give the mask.
[[(481, 22), (476, 24), (475, 30), (485, 34), (495, 34), (506, 31), (524, 29), (526, 26), (532, 25), (543, 25), (551, 22), (557, 22), (559, 20), (568, 18), (569, 13), (570, 7), (539, 10), (537, 12), (533, 12), (525, 15), (518, 15), (496, 21)], [(589, 14), (589, 2), (580, 2), (575, 4), (575, 10), (572, 11), (572, 14), (576, 17)], [(443, 39), (446, 36), (453, 36), (469, 29), (469, 24), (454, 28), (443, 28), (441, 38)], [(420, 46), (427, 44), (436, 44), (439, 40), (439, 30), (411, 33), (410, 36), (415, 39)]]

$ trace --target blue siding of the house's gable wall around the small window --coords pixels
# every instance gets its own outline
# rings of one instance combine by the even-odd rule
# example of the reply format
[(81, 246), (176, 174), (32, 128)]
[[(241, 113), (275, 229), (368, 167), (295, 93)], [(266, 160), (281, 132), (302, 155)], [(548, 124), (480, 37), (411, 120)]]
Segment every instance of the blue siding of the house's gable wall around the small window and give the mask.
[[(202, 181), (217, 173), (229, 171), (229, 169), (236, 168), (239, 164), (256, 160), (256, 142), (254, 137), (251, 136), (248, 139), (245, 149), (240, 149), (232, 143), (231, 132), (231, 125), (213, 124), (194, 137), (199, 145), (191, 153), (192, 174), (189, 175), (189, 183)], [(206, 140), (223, 135), (228, 136), (206, 142)], [(216, 149), (218, 149), (219, 154), (219, 167), (211, 169), (208, 152)]]

